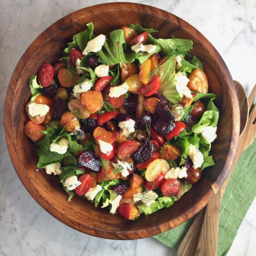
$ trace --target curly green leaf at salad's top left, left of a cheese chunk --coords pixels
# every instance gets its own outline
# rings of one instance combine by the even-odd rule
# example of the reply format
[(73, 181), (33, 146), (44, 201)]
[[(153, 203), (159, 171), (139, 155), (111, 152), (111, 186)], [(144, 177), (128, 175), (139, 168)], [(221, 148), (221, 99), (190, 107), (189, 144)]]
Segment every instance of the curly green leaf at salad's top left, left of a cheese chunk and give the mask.
[(72, 48), (77, 48), (83, 51), (89, 40), (94, 39), (94, 24), (92, 22), (86, 24), (87, 29), (73, 36), (73, 41), (67, 43), (68, 47), (65, 48), (64, 53), (68, 54)]

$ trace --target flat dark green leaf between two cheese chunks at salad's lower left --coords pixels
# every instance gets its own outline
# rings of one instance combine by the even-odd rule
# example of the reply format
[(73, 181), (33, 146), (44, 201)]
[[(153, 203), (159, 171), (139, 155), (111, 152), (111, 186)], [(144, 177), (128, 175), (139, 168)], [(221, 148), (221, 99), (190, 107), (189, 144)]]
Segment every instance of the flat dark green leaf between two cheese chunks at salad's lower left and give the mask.
[(54, 128), (47, 128), (46, 131), (42, 131), (45, 134), (45, 137), (35, 144), (37, 147), (39, 147), (36, 150), (37, 155), (39, 156), (37, 168), (43, 168), (46, 165), (61, 162), (61, 160), (64, 158), (64, 155), (50, 151), (51, 140), (56, 131), (57, 130)]

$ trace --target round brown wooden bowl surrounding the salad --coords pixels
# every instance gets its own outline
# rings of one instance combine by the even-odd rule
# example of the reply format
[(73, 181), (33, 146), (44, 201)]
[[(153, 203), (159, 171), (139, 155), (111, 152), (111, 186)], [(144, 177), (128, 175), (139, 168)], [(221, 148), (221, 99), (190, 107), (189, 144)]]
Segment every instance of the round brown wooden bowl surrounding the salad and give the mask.
[[(33, 143), (24, 134), (28, 121), (25, 106), (31, 94), (29, 77), (37, 74), (44, 61), (61, 57), (73, 34), (93, 21), (95, 34), (106, 34), (129, 23), (153, 27), (161, 38), (185, 38), (194, 41), (192, 54), (203, 64), (209, 91), (218, 95), (220, 109), (217, 139), (211, 153), (216, 165), (202, 172), (199, 182), (168, 209), (148, 217), (129, 221), (94, 208), (86, 199), (73, 198), (61, 188), (58, 177), (36, 171), (38, 157)], [(229, 173), (239, 135), (239, 107), (231, 75), (220, 54), (194, 27), (161, 9), (135, 3), (108, 3), (87, 7), (58, 20), (40, 34), (27, 48), (11, 78), (5, 102), (5, 135), (13, 166), (30, 195), (52, 216), (83, 233), (110, 239), (138, 239), (153, 236), (185, 222), (204, 208), (216, 194)]]

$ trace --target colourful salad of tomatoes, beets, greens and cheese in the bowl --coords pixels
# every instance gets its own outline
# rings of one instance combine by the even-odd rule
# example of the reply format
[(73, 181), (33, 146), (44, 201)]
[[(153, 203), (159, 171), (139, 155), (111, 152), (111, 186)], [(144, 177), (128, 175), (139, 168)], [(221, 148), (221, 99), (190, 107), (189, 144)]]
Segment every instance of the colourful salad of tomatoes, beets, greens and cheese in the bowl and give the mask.
[(25, 134), (68, 201), (134, 220), (173, 205), (215, 164), (216, 94), (193, 41), (155, 32), (130, 24), (107, 37), (90, 22), (30, 77)]

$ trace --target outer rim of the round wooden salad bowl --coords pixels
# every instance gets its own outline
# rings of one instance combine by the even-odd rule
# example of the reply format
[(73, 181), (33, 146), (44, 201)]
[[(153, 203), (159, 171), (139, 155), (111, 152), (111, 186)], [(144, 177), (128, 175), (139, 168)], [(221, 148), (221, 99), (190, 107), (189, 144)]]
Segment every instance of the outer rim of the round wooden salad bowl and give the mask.
[[(34, 184), (29, 180), (29, 177), (27, 176), (27, 174), (24, 175), (24, 173), (21, 172), (21, 169), (22, 169), (22, 168), (20, 168), (22, 166), (21, 160), (19, 159), (19, 161), (16, 161), (17, 157), (19, 158), (19, 154), (18, 154), (17, 148), (15, 147), (15, 140), (13, 137), (13, 133), (9, 132), (10, 127), (12, 127), (12, 125), (13, 125), (13, 108), (9, 108), (9, 105), (13, 106), (13, 97), (15, 96), (15, 92), (16, 92), (15, 85), (19, 78), (19, 76), (17, 76), (16, 73), (18, 72), (18, 70), (24, 71), (24, 67), (26, 65), (26, 62), (23, 60), (27, 60), (29, 58), (29, 54), (31, 52), (33, 52), (33, 49), (35, 47), (37, 47), (38, 41), (43, 43), (47, 40), (45, 37), (45, 34), (50, 34), (52, 32), (52, 31), (50, 31), (52, 26), (63, 27), (64, 19), (69, 19), (70, 23), (72, 23), (72, 22), (74, 22), (74, 19), (72, 19), (72, 16), (78, 15), (79, 13), (88, 15), (91, 13), (98, 13), (98, 12), (103, 12), (103, 11), (114, 11), (114, 10), (118, 11), (118, 10), (133, 10), (133, 9), (135, 9), (136, 12), (139, 12), (139, 13), (147, 13), (149, 15), (161, 17), (162, 19), (165, 19), (168, 22), (173, 22), (174, 19), (177, 20), (178, 25), (184, 31), (186, 31), (186, 33), (191, 34), (191, 29), (192, 29), (196, 34), (198, 34), (204, 40), (203, 47), (205, 47), (205, 42), (206, 42), (207, 47), (205, 47), (205, 48), (211, 49), (216, 54), (215, 61), (217, 62), (218, 66), (222, 66), (223, 69), (225, 70), (225, 71), (223, 71), (227, 75), (227, 80), (225, 80), (225, 83), (229, 84), (229, 87), (231, 88), (231, 91), (229, 93), (232, 94), (232, 97), (234, 98), (234, 101), (231, 102), (231, 104), (232, 104), (232, 108), (231, 108), (231, 112), (232, 112), (232, 115), (231, 115), (231, 118), (232, 118), (231, 137), (233, 139), (230, 141), (228, 157), (223, 165), (222, 171), (220, 172), (220, 174), (218, 175), (218, 177), (216, 179), (216, 182), (214, 182), (212, 184), (212, 186), (211, 186), (212, 189), (209, 189), (209, 191), (201, 198), (201, 200), (199, 202), (195, 203), (186, 213), (178, 216), (177, 218), (175, 218), (169, 222), (160, 224), (159, 226), (152, 225), (151, 228), (140, 229), (140, 232), (135, 231), (135, 230), (133, 230), (133, 231), (123, 230), (123, 231), (115, 231), (114, 232), (114, 231), (109, 231), (109, 230), (95, 229), (95, 228), (91, 228), (91, 227), (88, 227), (85, 225), (81, 226), (80, 223), (79, 223), (79, 225), (75, 225), (74, 221), (70, 220), (68, 217), (62, 216), (62, 214), (59, 212), (58, 209), (56, 209), (50, 202), (46, 201), (46, 199), (43, 196), (41, 196), (40, 193), (38, 193), (38, 190), (36, 189)], [(155, 12), (155, 10), (157, 10), (157, 12)], [(159, 14), (156, 15), (155, 13), (161, 13), (162, 15), (161, 16)], [(184, 26), (186, 26), (186, 28), (184, 28)], [(188, 31), (187, 28), (190, 29), (190, 32)], [(19, 72), (19, 75), (20, 74), (21, 73)], [(10, 99), (12, 99), (11, 104), (9, 102)], [(52, 25), (47, 27), (47, 29), (45, 29), (37, 38), (35, 38), (33, 40), (33, 42), (30, 44), (30, 46), (27, 48), (27, 50), (24, 52), (24, 54), (20, 57), (20, 60), (17, 64), (17, 66), (15, 67), (12, 77), (11, 77), (11, 80), (9, 82), (9, 86), (8, 86), (7, 94), (6, 94), (6, 100), (5, 100), (5, 108), (4, 108), (4, 127), (5, 127), (5, 137), (6, 137), (6, 142), (7, 142), (7, 149), (8, 149), (11, 161), (13, 163), (13, 167), (14, 167), (17, 175), (19, 176), (20, 181), (24, 185), (24, 187), (27, 189), (29, 194), (34, 198), (34, 200), (40, 204), (40, 206), (42, 208), (44, 208), (48, 213), (50, 213), (56, 219), (63, 222), (64, 224), (68, 225), (69, 227), (74, 228), (83, 233), (86, 233), (88, 235), (102, 237), (102, 238), (108, 238), (108, 239), (127, 239), (128, 240), (128, 239), (138, 239), (138, 238), (145, 238), (148, 236), (157, 235), (159, 233), (167, 231), (168, 229), (175, 228), (177, 225), (180, 225), (183, 222), (185, 222), (188, 219), (195, 216), (195, 214), (197, 214), (200, 210), (202, 210), (205, 207), (205, 205), (210, 201), (210, 199), (217, 193), (218, 189), (221, 187), (222, 183), (226, 179), (226, 177), (229, 173), (229, 168), (231, 166), (231, 163), (233, 162), (233, 159), (235, 157), (235, 151), (236, 151), (237, 141), (238, 141), (238, 136), (239, 136), (239, 124), (240, 124), (239, 115), (237, 115), (237, 113), (239, 113), (239, 112), (237, 112), (237, 111), (239, 111), (237, 94), (236, 94), (235, 86), (234, 86), (233, 80), (231, 78), (231, 75), (229, 73), (229, 70), (228, 70), (225, 62), (223, 61), (222, 57), (220, 56), (220, 54), (215, 49), (215, 47), (213, 47), (212, 44), (198, 30), (195, 29), (195, 27), (190, 25), (185, 20), (177, 17), (176, 15), (169, 13), (167, 11), (164, 11), (162, 9), (159, 9), (157, 7), (152, 7), (152, 6), (138, 4), (138, 3), (114, 2), (114, 3), (104, 3), (104, 4), (89, 6), (89, 7), (85, 7), (80, 10), (77, 10), (73, 13), (69, 13), (68, 15), (62, 17), (60, 20), (57, 20)], [(117, 235), (116, 235), (116, 233), (117, 233)], [(118, 236), (118, 234), (123, 235), (123, 236), (120, 237), (120, 236)], [(124, 234), (125, 234), (125, 236), (124, 236)], [(123, 238), (123, 237), (126, 237), (126, 238)]]

